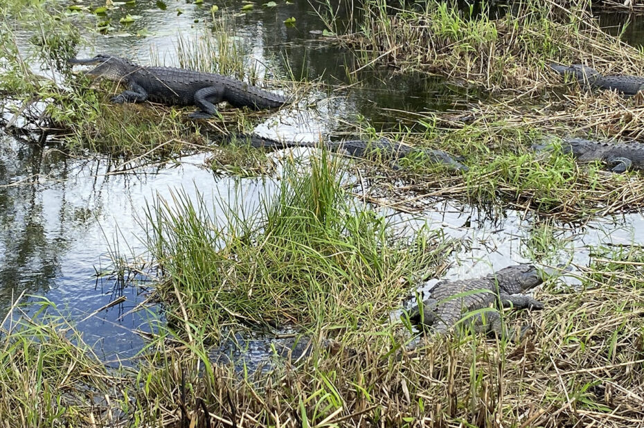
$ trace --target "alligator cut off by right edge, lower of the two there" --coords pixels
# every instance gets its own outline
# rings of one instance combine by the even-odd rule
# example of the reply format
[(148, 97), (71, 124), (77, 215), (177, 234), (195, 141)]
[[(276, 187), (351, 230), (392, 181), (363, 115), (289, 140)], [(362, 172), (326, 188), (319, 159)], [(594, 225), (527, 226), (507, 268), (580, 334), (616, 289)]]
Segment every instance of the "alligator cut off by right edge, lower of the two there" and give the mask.
[[(544, 150), (550, 145), (534, 145), (535, 150)], [(566, 138), (562, 151), (572, 153), (580, 162), (602, 161), (613, 166), (613, 172), (644, 170), (644, 145), (639, 143), (600, 143), (587, 139)]]

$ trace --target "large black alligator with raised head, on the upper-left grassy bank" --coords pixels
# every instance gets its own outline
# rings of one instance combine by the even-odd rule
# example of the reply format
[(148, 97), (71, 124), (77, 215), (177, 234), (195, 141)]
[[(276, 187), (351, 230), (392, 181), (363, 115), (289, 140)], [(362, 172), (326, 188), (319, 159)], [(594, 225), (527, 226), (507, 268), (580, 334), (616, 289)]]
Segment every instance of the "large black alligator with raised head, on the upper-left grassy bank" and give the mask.
[(111, 102), (142, 102), (150, 100), (166, 105), (195, 105), (190, 118), (210, 118), (217, 105), (227, 101), (233, 107), (272, 109), (285, 105), (284, 96), (265, 91), (250, 84), (215, 73), (204, 73), (173, 67), (143, 67), (125, 58), (96, 55), (89, 59), (71, 58), (71, 64), (98, 64), (85, 74), (123, 84), (126, 91), (111, 98)]

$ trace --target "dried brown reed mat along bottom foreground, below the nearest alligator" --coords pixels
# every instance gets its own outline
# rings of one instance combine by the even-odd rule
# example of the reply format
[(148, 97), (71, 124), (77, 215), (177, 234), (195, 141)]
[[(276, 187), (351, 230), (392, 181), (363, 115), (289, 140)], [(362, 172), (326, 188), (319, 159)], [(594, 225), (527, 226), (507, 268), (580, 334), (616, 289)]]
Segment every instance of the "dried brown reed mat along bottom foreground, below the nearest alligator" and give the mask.
[[(144, 366), (142, 378), (163, 384), (138, 400), (141, 409), (163, 408), (164, 425), (175, 427), (639, 426), (642, 260), (639, 249), (603, 252), (582, 286), (546, 283), (537, 293), (544, 311), (508, 314), (512, 323), (533, 317), (533, 335), (520, 344), (466, 335), (398, 358), (397, 329), (369, 325), (337, 337), (330, 353), (245, 380), (200, 362), (188, 346), (166, 350), (162, 368)], [(175, 402), (161, 407), (168, 393)]]

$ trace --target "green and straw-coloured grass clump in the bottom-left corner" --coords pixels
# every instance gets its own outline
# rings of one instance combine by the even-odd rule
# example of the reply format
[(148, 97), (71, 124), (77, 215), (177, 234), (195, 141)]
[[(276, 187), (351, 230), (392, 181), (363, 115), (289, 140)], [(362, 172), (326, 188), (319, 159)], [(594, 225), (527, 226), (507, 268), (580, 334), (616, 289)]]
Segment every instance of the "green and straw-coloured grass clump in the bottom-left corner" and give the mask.
[(102, 397), (118, 377), (107, 373), (68, 321), (48, 314), (55, 310), (52, 303), (36, 304), (40, 310), (35, 316), (6, 321), (0, 329), (2, 426), (81, 427), (108, 422)]

